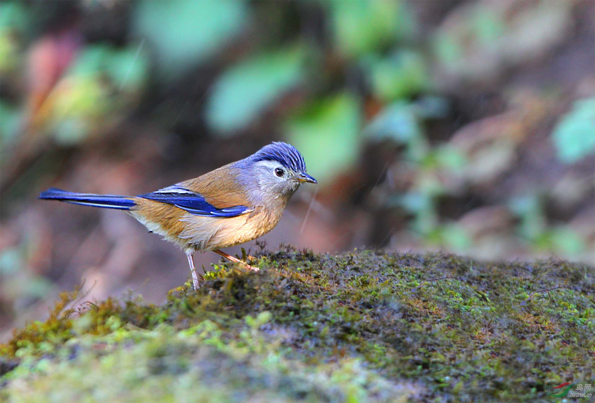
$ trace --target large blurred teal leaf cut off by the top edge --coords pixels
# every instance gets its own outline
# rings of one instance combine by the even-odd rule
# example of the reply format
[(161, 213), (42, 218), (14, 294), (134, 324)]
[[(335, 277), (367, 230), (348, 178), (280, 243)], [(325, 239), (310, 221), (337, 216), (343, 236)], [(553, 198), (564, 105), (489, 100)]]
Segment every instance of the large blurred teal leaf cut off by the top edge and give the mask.
[(133, 31), (154, 46), (161, 70), (178, 75), (239, 33), (248, 17), (243, 1), (134, 2)]

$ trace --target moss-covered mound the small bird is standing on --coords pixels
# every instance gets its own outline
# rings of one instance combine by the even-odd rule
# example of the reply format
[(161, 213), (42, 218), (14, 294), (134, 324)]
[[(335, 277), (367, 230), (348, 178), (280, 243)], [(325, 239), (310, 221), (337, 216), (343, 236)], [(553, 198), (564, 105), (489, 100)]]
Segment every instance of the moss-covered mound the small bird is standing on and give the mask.
[[(291, 248), (201, 290), (57, 304), (2, 346), (11, 401), (527, 401), (593, 382), (595, 274)], [(149, 400), (148, 400), (149, 399)]]

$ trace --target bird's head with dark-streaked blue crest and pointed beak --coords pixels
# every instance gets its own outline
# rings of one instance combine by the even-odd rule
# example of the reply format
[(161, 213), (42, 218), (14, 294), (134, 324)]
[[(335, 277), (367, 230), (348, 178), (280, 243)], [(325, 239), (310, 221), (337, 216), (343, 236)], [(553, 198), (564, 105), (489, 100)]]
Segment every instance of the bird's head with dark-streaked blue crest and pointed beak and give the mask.
[(306, 172), (302, 154), (293, 145), (273, 142), (246, 158), (246, 171), (263, 198), (293, 195), (302, 183), (318, 183)]

